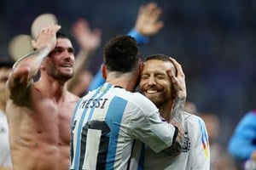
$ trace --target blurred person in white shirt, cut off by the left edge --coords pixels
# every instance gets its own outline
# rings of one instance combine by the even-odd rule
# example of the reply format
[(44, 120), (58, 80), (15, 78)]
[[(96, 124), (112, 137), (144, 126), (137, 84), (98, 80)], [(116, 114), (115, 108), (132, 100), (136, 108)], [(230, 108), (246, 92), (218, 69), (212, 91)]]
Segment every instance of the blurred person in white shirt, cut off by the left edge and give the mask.
[(0, 169), (12, 166), (9, 148), (9, 127), (5, 113), (6, 95), (5, 84), (12, 71), (14, 61), (8, 58), (0, 58)]

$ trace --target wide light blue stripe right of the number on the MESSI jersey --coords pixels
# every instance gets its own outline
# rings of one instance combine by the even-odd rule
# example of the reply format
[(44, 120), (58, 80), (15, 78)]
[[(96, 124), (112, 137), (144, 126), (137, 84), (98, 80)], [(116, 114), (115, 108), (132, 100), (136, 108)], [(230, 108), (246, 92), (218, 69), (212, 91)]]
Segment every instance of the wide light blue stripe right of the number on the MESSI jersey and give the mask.
[(117, 142), (119, 139), (119, 129), (122, 122), (122, 118), (125, 111), (125, 106), (127, 105), (127, 100), (121, 99), (119, 97), (113, 97), (106, 116), (106, 122), (108, 127), (111, 129), (111, 134), (109, 137), (108, 145), (108, 156), (106, 170), (113, 169), (113, 164), (115, 160), (115, 154), (117, 149)]

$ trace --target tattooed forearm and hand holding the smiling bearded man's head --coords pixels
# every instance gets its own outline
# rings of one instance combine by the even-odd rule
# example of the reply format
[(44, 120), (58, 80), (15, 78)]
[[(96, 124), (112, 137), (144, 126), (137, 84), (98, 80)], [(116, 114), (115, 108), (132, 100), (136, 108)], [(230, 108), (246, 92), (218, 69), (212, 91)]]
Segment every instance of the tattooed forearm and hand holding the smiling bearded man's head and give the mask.
[(184, 138), (184, 123), (183, 112), (184, 105), (187, 98), (185, 75), (183, 73), (182, 66), (177, 63), (176, 59), (172, 59), (172, 63), (176, 68), (177, 74), (174, 71), (169, 71), (169, 77), (171, 77), (172, 85), (175, 91), (175, 101), (172, 109), (172, 117), (170, 123), (178, 128), (177, 138), (173, 142), (172, 146), (168, 149), (168, 152), (172, 153), (172, 156), (177, 156), (183, 149)]

